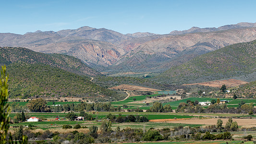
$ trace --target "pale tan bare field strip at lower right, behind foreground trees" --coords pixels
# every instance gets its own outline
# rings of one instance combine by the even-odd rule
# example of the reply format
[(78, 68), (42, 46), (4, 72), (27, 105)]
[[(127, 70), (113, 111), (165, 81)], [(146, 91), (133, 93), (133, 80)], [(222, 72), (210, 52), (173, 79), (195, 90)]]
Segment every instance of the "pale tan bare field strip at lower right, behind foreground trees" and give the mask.
[[(175, 121), (167, 121), (171, 123), (185, 123), (185, 124), (205, 124), (205, 125), (214, 125), (217, 124), (218, 119), (189, 119), (189, 120), (175, 120)], [(223, 125), (226, 125), (229, 119), (221, 119), (223, 120)], [(256, 119), (233, 119), (236, 121), (238, 126), (248, 126), (248, 125), (256, 125)]]

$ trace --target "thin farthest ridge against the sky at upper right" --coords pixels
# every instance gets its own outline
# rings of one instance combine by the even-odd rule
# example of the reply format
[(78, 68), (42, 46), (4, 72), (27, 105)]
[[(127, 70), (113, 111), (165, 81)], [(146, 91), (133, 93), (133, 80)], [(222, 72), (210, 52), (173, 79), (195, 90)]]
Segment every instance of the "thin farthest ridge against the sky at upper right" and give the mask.
[(216, 27), (206, 27), (206, 28), (199, 28), (199, 27), (192, 27), (188, 30), (183, 31), (172, 31), (171, 35), (182, 35), (182, 34), (188, 34), (188, 33), (205, 33), (205, 32), (213, 32), (213, 31), (223, 31), (223, 30), (229, 30), (234, 28), (245, 28), (245, 27), (256, 27), (256, 23), (238, 23), (238, 24), (230, 24), (230, 25), (224, 25), (220, 26), (218, 28)]

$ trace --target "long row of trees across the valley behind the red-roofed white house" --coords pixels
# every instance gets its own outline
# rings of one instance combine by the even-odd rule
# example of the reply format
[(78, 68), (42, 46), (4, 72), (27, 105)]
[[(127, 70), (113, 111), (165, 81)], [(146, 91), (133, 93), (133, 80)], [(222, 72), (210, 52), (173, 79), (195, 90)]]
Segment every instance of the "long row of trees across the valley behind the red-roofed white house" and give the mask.
[[(38, 98), (35, 100), (30, 100), (25, 106), (21, 106), (17, 103), (12, 103), (11, 105), (13, 112), (22, 112), (22, 111), (31, 111), (31, 112), (61, 112), (61, 111), (121, 111), (122, 107), (118, 106), (115, 108), (111, 106), (111, 103), (85, 103), (81, 102), (79, 104), (64, 104), (58, 106), (47, 106), (47, 101), (42, 98)], [(123, 105), (123, 108), (128, 106)], [(135, 109), (128, 109), (128, 111), (135, 111), (135, 112), (143, 112), (142, 109), (135, 108)], [(165, 105), (162, 106), (161, 103), (155, 102), (153, 106), (147, 110), (147, 112), (171, 112), (171, 106)]]

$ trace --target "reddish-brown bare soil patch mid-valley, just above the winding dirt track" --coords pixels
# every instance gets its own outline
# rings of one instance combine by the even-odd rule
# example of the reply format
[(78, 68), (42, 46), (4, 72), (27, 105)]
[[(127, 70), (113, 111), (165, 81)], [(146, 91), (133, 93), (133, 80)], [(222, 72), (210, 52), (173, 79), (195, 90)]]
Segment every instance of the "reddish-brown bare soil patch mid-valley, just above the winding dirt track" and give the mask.
[(143, 86), (136, 86), (136, 85), (129, 85), (129, 84), (121, 84), (118, 86), (110, 87), (109, 89), (122, 89), (126, 91), (150, 91), (150, 92), (158, 92), (161, 90), (153, 89), (153, 88), (147, 88)]

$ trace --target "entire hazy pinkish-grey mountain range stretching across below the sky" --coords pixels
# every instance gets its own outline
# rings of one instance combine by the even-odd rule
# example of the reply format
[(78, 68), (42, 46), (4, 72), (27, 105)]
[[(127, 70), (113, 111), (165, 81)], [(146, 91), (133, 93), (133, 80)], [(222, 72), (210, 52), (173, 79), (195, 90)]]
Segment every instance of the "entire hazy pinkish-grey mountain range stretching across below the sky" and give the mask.
[(163, 72), (209, 51), (255, 39), (256, 23), (192, 27), (167, 35), (123, 35), (105, 28), (84, 26), (24, 35), (0, 33), (0, 46), (67, 54), (100, 72)]

